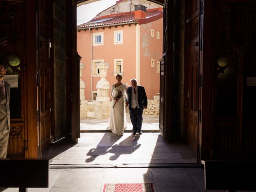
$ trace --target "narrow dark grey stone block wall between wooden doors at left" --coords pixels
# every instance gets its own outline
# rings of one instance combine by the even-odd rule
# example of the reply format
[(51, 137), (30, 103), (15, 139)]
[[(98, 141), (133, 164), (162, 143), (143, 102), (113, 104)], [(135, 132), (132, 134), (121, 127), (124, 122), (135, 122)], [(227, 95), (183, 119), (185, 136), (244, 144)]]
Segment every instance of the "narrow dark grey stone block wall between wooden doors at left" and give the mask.
[(66, 131), (65, 1), (54, 0), (54, 128), (55, 140)]

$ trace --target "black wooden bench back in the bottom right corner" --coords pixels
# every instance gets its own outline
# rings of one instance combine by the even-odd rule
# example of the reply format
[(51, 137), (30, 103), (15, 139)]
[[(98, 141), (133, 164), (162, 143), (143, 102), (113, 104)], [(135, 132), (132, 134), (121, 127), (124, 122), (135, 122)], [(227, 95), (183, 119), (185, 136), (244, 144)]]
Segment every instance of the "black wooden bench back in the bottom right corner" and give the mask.
[(256, 161), (202, 160), (205, 190), (256, 190)]

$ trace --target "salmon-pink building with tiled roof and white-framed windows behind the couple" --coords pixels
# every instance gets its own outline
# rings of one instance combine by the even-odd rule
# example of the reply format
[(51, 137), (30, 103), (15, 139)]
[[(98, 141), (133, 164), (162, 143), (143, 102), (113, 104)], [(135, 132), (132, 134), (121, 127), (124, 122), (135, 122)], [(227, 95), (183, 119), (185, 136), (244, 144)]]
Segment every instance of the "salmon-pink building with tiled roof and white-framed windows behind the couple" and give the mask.
[[(135, 0), (132, 2), (136, 3), (135, 10), (130, 7), (132, 11), (126, 12), (129, 2), (120, 0), (90, 22), (77, 27), (77, 50), (85, 67), (82, 80), (86, 100), (94, 100), (96, 96), (96, 84), (100, 80), (98, 62), (109, 64), (106, 80), (110, 85), (116, 83), (116, 74), (122, 74), (122, 82), (127, 86), (130, 86), (131, 78), (136, 78), (138, 84), (145, 87), (148, 99), (158, 95), (162, 8), (152, 2)], [(147, 6), (151, 9), (146, 9)]]

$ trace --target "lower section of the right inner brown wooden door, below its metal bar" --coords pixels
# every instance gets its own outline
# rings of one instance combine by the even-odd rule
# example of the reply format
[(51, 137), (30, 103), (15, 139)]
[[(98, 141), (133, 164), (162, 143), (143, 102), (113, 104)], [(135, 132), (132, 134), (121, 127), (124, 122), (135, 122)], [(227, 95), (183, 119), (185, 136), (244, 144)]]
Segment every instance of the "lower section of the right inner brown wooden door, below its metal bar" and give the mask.
[(188, 99), (187, 109), (187, 141), (197, 151), (198, 142), (198, 49), (194, 46), (188, 50)]

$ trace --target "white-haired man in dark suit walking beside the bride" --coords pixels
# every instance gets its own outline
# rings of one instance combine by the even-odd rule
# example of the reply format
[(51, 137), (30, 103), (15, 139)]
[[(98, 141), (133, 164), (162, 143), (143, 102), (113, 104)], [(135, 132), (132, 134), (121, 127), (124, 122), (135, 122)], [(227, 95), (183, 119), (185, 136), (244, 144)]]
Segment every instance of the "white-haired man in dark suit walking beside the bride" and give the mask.
[(131, 87), (127, 88), (128, 98), (126, 98), (126, 106), (129, 105), (130, 119), (132, 122), (132, 134), (142, 134), (142, 113), (148, 107), (148, 98), (145, 88), (137, 86), (137, 80), (131, 79)]

